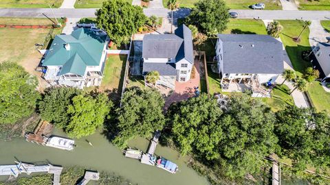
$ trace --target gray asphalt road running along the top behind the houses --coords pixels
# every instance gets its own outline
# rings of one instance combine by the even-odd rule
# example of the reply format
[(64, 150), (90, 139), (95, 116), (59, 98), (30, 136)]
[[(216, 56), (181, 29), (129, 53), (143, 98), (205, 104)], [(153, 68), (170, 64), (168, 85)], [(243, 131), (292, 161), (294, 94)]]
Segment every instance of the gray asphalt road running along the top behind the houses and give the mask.
[[(0, 17), (44, 17), (43, 13), (50, 17), (66, 16), (68, 18), (95, 17), (95, 8), (81, 9), (53, 9), (50, 8), (0, 8)], [(146, 16), (170, 17), (170, 10), (166, 8), (146, 8), (143, 10)], [(238, 12), (238, 18), (260, 19), (304, 19), (304, 20), (330, 20), (330, 11), (303, 11), (303, 10), (230, 10)], [(181, 8), (174, 13), (175, 18), (184, 17), (190, 10)]]

